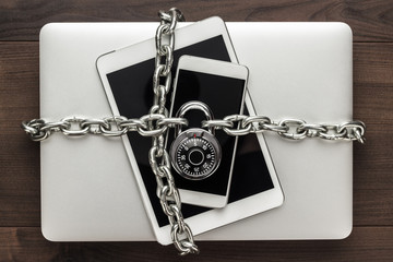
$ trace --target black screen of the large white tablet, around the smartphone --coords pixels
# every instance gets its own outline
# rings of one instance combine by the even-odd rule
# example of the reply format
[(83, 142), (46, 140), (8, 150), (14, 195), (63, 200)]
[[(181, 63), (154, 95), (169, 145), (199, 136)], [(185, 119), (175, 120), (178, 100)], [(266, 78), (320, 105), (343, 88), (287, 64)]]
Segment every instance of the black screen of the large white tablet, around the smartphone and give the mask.
[[(107, 74), (118, 110), (127, 118), (140, 118), (153, 104), (153, 58)], [(223, 36), (216, 36), (174, 51), (172, 75), (178, 60), (183, 55), (230, 61)], [(124, 58), (127, 59), (127, 58)], [(252, 72), (250, 72), (252, 73)], [(168, 94), (167, 97), (171, 97)], [(215, 97), (215, 102), (226, 96)], [(168, 106), (167, 106), (168, 107)], [(248, 111), (245, 109), (245, 114)], [(219, 116), (216, 116), (219, 117)], [(156, 180), (148, 164), (151, 138), (143, 138), (136, 132), (128, 133), (132, 151), (138, 162), (144, 186), (160, 227), (169, 224), (156, 195)], [(240, 136), (234, 165), (228, 203), (261, 193), (274, 188), (264, 157), (259, 147), (257, 135)], [(206, 207), (182, 204), (184, 218), (209, 211)]]

